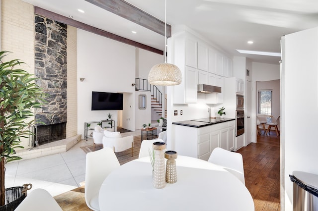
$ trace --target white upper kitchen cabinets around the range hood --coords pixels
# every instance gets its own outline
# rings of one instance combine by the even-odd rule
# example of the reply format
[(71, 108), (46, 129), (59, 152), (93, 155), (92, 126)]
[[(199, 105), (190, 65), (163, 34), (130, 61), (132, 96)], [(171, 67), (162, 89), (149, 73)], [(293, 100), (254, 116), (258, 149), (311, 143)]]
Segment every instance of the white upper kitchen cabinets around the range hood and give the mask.
[[(168, 44), (168, 60), (182, 73), (181, 84), (173, 87), (174, 104), (196, 103), (198, 84), (223, 87), (223, 78), (232, 76), (232, 59), (194, 35), (186, 31), (176, 33)], [(217, 96), (215, 103), (222, 103), (223, 94)]]

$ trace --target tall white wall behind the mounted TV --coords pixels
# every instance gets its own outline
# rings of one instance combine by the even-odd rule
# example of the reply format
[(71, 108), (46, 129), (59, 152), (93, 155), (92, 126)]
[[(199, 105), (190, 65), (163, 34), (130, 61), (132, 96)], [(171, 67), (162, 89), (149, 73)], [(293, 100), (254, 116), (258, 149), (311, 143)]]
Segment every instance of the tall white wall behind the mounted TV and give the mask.
[[(135, 47), (78, 29), (78, 134), (84, 138), (84, 122), (107, 118), (111, 112), (117, 124), (117, 111), (91, 110), (91, 92), (133, 93), (135, 87)], [(131, 112), (135, 111), (135, 97), (127, 97)], [(128, 119), (135, 122), (134, 114), (123, 113), (123, 125)], [(126, 122), (125, 122), (126, 121)], [(129, 129), (129, 128), (127, 128)]]

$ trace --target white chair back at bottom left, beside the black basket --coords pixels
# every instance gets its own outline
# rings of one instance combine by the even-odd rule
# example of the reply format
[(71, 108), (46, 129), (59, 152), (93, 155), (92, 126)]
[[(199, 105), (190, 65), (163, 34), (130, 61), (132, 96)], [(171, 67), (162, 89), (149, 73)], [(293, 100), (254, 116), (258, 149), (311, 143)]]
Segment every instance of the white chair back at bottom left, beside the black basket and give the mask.
[(62, 211), (49, 192), (38, 188), (31, 191), (15, 211)]

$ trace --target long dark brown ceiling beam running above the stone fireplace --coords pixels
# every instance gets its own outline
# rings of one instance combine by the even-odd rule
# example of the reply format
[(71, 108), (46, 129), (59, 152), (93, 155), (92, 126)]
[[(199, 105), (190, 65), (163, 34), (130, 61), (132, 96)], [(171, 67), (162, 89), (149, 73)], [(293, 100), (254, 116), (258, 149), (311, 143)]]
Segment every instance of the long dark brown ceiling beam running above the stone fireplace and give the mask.
[(71, 18), (65, 17), (63, 15), (59, 15), (57, 13), (51, 12), (49, 10), (46, 10), (46, 9), (43, 9), (43, 8), (40, 8), (37, 6), (34, 6), (34, 13), (38, 14), (38, 15), (46, 16), (48, 18), (51, 18), (52, 20), (59, 21), (61, 23), (64, 23), (64, 24), (67, 24), (70, 26), (74, 26), (76, 28), (79, 28), (79, 29), (103, 36), (103, 37), (107, 37), (107, 38), (112, 39), (112, 40), (116, 40), (116, 41), (121, 42), (121, 43), (125, 43), (125, 44), (135, 46), (135, 47), (140, 48), (140, 49), (144, 49), (144, 50), (147, 50), (150, 52), (154, 52), (154, 53), (158, 53), (158, 54), (163, 55), (163, 51), (161, 51), (159, 49), (155, 49), (155, 48), (152, 48), (150, 46), (146, 46), (144, 44), (135, 42), (133, 40), (129, 40), (129, 39), (124, 38), (124, 37), (120, 37), (120, 36), (115, 35), (113, 33), (98, 29), (96, 27), (92, 27), (92, 26), (87, 25), (85, 23), (81, 23), (79, 21), (73, 20)]

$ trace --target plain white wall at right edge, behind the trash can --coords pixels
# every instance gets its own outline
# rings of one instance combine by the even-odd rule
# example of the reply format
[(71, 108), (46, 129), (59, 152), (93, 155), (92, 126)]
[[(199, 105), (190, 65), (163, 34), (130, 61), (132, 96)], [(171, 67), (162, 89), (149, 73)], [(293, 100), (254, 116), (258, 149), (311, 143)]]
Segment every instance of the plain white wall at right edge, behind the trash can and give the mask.
[[(292, 210), (289, 174), (318, 174), (318, 28), (285, 36), (282, 63), (282, 184), (285, 210)], [(283, 38), (284, 39), (284, 38)], [(303, 109), (305, 108), (305, 109)], [(285, 167), (285, 169), (284, 169)]]

